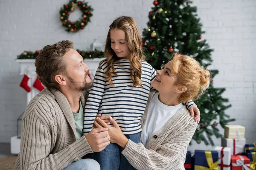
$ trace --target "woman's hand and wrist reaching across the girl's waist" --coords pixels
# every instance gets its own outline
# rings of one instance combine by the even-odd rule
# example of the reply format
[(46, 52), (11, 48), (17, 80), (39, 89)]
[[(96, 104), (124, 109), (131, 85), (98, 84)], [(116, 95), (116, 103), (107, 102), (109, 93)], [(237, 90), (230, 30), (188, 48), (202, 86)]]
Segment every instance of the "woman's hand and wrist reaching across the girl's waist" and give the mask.
[[(108, 128), (108, 134), (110, 136), (110, 142), (111, 143), (116, 143), (122, 148), (125, 148), (128, 139), (125, 137), (125, 135), (122, 133), (122, 130), (120, 129), (119, 125), (116, 123), (116, 120), (113, 119), (111, 116), (109, 116), (110, 122), (113, 123), (113, 127), (107, 125), (102, 119), (99, 117), (96, 118), (98, 122), (103, 125), (103, 127)], [(96, 121), (94, 122), (96, 127), (101, 127)]]

